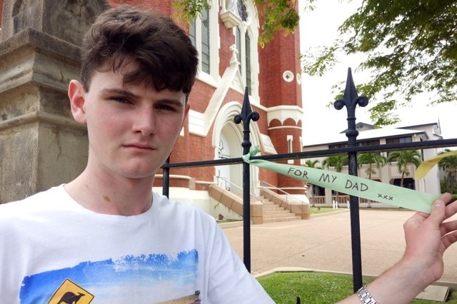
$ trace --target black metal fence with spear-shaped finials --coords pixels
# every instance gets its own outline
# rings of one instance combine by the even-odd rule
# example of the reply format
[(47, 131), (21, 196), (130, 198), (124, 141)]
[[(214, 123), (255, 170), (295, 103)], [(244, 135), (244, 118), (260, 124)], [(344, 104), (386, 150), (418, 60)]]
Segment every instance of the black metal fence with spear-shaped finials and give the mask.
[[(348, 154), (348, 171), (352, 176), (357, 176), (357, 153), (363, 152), (388, 152), (401, 150), (421, 150), (427, 148), (446, 148), (457, 146), (457, 138), (437, 140), (437, 141), (417, 141), (411, 143), (391, 143), (378, 146), (357, 146), (358, 131), (356, 130), (356, 106), (366, 106), (368, 99), (364, 96), (358, 96), (355, 85), (353, 83), (351, 69), (348, 70), (348, 78), (346, 81), (346, 89), (343, 98), (335, 102), (335, 108), (341, 110), (346, 106), (348, 129), (346, 136), (348, 137), (347, 148), (335, 148), (319, 151), (306, 151), (297, 153), (284, 153), (268, 156), (254, 156), (251, 159), (263, 159), (266, 161), (281, 161), (303, 158), (328, 157), (334, 155)], [(243, 122), (243, 154), (249, 152), (251, 141), (249, 140), (249, 123), (251, 120), (257, 121), (258, 113), (251, 110), (249, 103), (248, 92), (245, 92), (243, 108), (241, 113), (235, 116), (235, 123)], [(162, 166), (163, 169), (163, 193), (169, 196), (169, 176), (170, 170), (173, 168), (191, 168), (201, 166), (224, 166), (243, 164), (243, 263), (247, 270), (251, 271), (251, 215), (249, 201), (249, 165), (243, 162), (242, 158), (217, 159), (210, 161), (194, 161), (191, 163), (169, 163), (166, 161)], [(361, 237), (360, 237), (360, 221), (358, 209), (358, 197), (349, 196), (350, 214), (351, 214), (351, 248), (352, 248), (352, 268), (353, 268), (353, 290), (354, 292), (362, 287), (362, 265), (361, 265)]]

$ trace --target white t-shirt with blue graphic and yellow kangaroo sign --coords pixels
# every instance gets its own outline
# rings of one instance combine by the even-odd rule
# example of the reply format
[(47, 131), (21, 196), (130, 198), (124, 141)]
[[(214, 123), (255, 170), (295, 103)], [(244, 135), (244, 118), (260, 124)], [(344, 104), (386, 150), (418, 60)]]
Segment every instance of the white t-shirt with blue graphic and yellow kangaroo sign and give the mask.
[(154, 193), (145, 213), (109, 216), (64, 186), (0, 206), (0, 301), (273, 303), (199, 208)]

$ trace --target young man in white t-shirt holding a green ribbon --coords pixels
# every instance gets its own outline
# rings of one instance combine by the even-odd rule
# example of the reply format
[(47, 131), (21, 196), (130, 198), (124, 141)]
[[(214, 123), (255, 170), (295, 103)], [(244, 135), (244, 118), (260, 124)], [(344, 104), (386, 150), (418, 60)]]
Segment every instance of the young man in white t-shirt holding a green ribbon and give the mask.
[[(273, 303), (213, 218), (151, 192), (189, 111), (197, 54), (186, 33), (117, 6), (82, 50), (69, 98), (88, 163), (66, 185), (0, 206), (1, 303)], [(457, 212), (449, 200), (405, 224), (404, 258), (367, 288), (381, 303), (408, 303), (441, 277), (457, 240), (457, 222), (443, 223)]]

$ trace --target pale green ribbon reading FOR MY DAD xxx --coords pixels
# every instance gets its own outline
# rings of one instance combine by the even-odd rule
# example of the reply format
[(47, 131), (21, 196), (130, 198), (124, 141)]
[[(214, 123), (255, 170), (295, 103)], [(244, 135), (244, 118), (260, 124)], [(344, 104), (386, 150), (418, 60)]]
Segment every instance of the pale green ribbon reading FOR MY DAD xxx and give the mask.
[(388, 203), (425, 213), (431, 213), (433, 202), (441, 197), (441, 195), (414, 191), (408, 188), (401, 188), (387, 183), (372, 181), (368, 178), (350, 176), (334, 171), (272, 163), (261, 159), (251, 160), (251, 157), (260, 151), (260, 148), (254, 148), (250, 153), (243, 156), (243, 161), (260, 168), (281, 173), (285, 176), (290, 176), (291, 178), (306, 181), (316, 186), (331, 188), (334, 191), (346, 193), (350, 196), (358, 196), (371, 201)]

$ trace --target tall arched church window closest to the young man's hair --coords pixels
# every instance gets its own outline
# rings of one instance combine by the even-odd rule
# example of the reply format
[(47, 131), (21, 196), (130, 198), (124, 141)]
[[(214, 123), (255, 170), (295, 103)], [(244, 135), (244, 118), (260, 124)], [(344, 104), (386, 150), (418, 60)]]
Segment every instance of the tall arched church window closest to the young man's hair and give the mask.
[(199, 51), (199, 78), (210, 83), (218, 78), (217, 7), (217, 2), (211, 1), (211, 8), (203, 9), (201, 15), (189, 25), (189, 37)]

